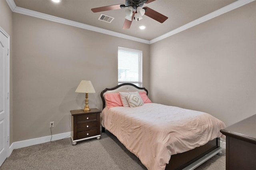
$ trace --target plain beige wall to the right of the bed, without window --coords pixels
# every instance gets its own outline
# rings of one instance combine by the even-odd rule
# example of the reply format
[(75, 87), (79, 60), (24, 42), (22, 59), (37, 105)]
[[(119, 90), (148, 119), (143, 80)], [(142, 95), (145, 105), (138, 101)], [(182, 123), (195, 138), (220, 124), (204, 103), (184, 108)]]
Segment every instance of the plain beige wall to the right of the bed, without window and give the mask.
[(254, 115), (255, 9), (251, 2), (151, 44), (152, 100), (210, 113), (226, 125)]

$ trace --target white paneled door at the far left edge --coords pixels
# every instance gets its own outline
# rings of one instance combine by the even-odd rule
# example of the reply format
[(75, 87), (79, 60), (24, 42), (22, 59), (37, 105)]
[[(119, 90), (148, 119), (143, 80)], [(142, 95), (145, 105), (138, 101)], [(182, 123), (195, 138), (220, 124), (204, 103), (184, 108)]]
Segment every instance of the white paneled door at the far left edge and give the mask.
[(0, 166), (9, 154), (9, 36), (0, 27)]

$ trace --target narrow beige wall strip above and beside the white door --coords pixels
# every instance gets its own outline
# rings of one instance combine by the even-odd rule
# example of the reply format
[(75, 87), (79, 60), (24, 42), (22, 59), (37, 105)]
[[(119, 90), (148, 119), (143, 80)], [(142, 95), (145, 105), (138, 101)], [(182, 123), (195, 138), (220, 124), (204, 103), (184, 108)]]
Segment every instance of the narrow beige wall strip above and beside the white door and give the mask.
[(10, 144), (12, 144), (12, 10), (5, 0), (0, 0), (0, 27), (10, 36)]

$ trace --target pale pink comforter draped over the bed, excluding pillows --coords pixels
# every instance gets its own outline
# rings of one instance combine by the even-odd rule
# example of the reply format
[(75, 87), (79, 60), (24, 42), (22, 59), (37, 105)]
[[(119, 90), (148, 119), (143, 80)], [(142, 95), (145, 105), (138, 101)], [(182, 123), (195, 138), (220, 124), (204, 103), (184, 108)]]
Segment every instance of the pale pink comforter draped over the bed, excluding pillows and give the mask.
[(148, 170), (164, 170), (172, 154), (186, 152), (221, 137), (226, 125), (208, 113), (145, 103), (107, 107), (102, 126), (114, 134)]

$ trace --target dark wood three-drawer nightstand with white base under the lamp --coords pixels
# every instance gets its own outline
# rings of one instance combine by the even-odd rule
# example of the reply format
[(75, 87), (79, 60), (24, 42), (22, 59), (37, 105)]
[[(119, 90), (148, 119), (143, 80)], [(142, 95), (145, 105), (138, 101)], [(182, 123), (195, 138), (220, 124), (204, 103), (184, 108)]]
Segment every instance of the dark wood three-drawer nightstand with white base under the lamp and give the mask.
[(91, 109), (90, 112), (84, 112), (82, 109), (70, 111), (73, 145), (81, 140), (100, 139), (100, 112), (96, 108)]

